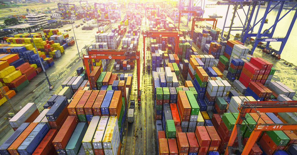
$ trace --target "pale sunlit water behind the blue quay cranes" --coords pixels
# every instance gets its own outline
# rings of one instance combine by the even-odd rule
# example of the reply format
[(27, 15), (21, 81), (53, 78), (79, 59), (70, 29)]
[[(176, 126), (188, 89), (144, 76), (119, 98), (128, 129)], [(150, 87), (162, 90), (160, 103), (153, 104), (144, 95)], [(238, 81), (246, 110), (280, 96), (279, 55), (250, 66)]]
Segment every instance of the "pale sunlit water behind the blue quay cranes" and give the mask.
[[(205, 3), (206, 4), (215, 4), (216, 1), (206, 0)], [(205, 13), (204, 13), (203, 17), (208, 18), (208, 15), (213, 15), (213, 13), (215, 13), (215, 12), (217, 13), (218, 16), (223, 16), (223, 18), (218, 18), (218, 23), (217, 23), (217, 28), (222, 29), (223, 25), (224, 25), (225, 17), (226, 17), (227, 8), (228, 8), (227, 5), (220, 5), (215, 8), (205, 8)], [(245, 12), (247, 12), (247, 9), (248, 9), (247, 6), (244, 7)], [(266, 9), (266, 7), (260, 7), (256, 23), (258, 20), (260, 20), (263, 17), (265, 9)], [(256, 10), (257, 10), (257, 8), (255, 9), (255, 13), (254, 13), (253, 20), (251, 21), (251, 25), (254, 22)], [(283, 15), (285, 15), (285, 13), (287, 11), (288, 10), (283, 9), (279, 18), (281, 18)], [(238, 15), (241, 17), (242, 23), (244, 23), (245, 15), (244, 15), (243, 9), (238, 9), (237, 12), (238, 12)], [(278, 12), (278, 9), (273, 9), (267, 15), (266, 18), (268, 19), (268, 23), (263, 25), (263, 29), (262, 29), (261, 33), (263, 33), (264, 30), (270, 28), (273, 25), (273, 23), (275, 21), (275, 17), (277, 15), (277, 12)], [(277, 27), (274, 31), (273, 37), (284, 37), (286, 35), (294, 14), (295, 14), (295, 10), (290, 11), (282, 20), (279, 21), (279, 23), (277, 23)], [(230, 6), (229, 13), (228, 13), (227, 20), (226, 20), (226, 26), (228, 26), (228, 27), (230, 26), (232, 15), (233, 15), (233, 6)], [(236, 14), (236, 18), (234, 19), (234, 22), (233, 22), (234, 23), (233, 26), (235, 26), (235, 27), (242, 26), (238, 15)], [(254, 33), (257, 33), (259, 27), (260, 27), (260, 22), (255, 26)], [(224, 31), (228, 31), (228, 29), (225, 28)], [(241, 31), (231, 31), (232, 35), (236, 35), (236, 33), (241, 33)], [(297, 40), (297, 35), (294, 35), (296, 33), (297, 33), (297, 25), (295, 22), (295, 25), (292, 28), (291, 34), (288, 38), (288, 41), (287, 41), (287, 43), (282, 51), (282, 54), (281, 54), (282, 59), (285, 59), (288, 62), (293, 63), (295, 65), (297, 65), (297, 59), (294, 58), (293, 55), (295, 54), (294, 52), (296, 52), (296, 47), (295, 47), (296, 42), (295, 41)], [(232, 38), (230, 38), (230, 39), (232, 39)], [(281, 42), (270, 42), (270, 45), (272, 46), (272, 48), (278, 50), (281, 45)]]

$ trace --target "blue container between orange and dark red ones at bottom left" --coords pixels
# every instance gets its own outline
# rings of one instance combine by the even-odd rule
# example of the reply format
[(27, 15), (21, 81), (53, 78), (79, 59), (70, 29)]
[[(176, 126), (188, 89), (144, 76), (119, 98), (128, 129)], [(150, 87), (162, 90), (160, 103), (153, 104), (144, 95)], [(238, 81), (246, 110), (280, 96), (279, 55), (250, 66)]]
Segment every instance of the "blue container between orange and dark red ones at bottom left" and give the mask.
[(28, 135), (28, 137), (23, 141), (23, 143), (18, 147), (18, 152), (20, 155), (32, 154), (48, 133), (50, 127), (46, 123), (39, 123)]

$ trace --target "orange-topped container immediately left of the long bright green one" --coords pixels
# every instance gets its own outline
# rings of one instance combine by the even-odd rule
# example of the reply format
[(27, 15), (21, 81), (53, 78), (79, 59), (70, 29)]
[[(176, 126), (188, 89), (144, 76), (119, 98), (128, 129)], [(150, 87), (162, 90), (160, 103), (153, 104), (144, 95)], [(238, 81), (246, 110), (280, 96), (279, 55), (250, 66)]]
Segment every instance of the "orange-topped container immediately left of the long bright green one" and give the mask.
[(191, 106), (185, 91), (178, 91), (177, 107), (181, 117), (181, 121), (189, 122), (191, 114)]

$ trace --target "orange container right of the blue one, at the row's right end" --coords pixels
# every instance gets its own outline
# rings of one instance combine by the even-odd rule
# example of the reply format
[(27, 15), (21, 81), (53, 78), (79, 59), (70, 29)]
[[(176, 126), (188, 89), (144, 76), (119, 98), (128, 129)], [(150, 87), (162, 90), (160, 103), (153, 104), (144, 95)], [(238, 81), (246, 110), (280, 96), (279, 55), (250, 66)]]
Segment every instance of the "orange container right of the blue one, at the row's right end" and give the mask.
[(121, 91), (115, 90), (109, 105), (110, 116), (117, 116), (118, 118), (120, 118), (122, 104), (123, 101), (121, 98)]

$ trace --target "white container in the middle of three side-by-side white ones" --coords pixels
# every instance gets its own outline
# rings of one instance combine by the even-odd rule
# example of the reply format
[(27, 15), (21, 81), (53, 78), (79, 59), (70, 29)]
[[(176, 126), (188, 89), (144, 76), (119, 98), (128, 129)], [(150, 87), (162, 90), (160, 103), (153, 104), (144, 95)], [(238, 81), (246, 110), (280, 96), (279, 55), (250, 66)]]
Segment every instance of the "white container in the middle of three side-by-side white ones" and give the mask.
[(93, 146), (94, 149), (102, 149), (102, 139), (104, 136), (105, 128), (108, 122), (108, 116), (101, 116), (101, 119), (99, 121), (97, 130), (95, 132), (94, 138), (93, 138)]

